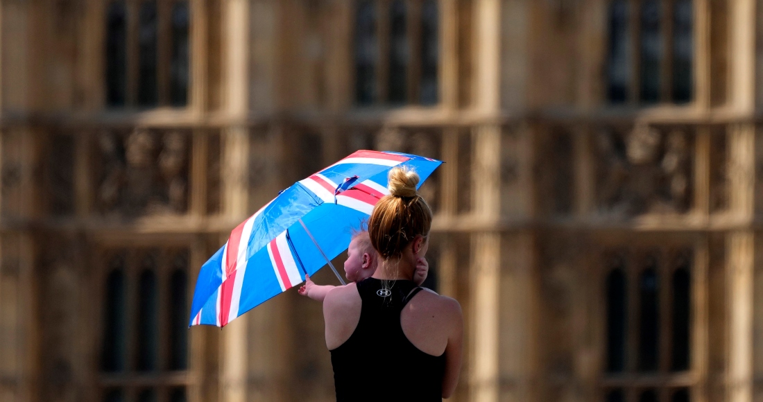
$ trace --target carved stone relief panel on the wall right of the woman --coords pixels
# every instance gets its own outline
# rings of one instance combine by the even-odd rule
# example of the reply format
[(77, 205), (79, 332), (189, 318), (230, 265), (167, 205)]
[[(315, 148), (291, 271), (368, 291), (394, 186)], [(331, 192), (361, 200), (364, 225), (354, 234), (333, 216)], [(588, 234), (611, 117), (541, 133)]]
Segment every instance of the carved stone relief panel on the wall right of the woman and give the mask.
[(596, 133), (600, 211), (620, 216), (686, 212), (692, 195), (692, 140), (681, 129), (646, 125), (625, 136), (613, 130)]

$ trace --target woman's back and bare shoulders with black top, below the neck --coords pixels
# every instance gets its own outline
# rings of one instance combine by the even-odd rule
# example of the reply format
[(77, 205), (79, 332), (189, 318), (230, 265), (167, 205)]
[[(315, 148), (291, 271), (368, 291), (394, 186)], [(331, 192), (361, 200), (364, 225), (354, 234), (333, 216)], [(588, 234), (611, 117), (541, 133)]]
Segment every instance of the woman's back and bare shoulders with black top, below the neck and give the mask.
[(412, 294), (411, 281), (391, 284), (386, 297), (381, 281), (369, 278), (336, 288), (324, 301), (338, 401), (441, 400), (455, 388), (458, 302), (430, 291)]

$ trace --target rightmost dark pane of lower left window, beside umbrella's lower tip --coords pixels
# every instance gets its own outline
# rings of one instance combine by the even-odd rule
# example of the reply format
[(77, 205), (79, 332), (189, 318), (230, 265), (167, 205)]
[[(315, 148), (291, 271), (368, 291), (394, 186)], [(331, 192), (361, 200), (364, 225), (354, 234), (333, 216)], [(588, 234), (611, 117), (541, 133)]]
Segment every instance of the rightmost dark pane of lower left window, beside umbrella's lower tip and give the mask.
[(188, 275), (185, 253), (175, 256), (175, 270), (169, 279), (169, 369), (185, 370), (188, 367), (188, 310), (186, 309)]

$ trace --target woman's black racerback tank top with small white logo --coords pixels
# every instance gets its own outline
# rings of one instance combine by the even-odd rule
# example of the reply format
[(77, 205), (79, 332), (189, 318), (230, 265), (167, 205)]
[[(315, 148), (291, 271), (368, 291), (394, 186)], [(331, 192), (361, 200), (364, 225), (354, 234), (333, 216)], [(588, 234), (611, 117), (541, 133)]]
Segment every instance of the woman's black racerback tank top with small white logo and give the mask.
[(331, 351), (337, 402), (443, 400), (445, 353), (422, 352), (400, 324), (405, 304), (421, 288), (413, 281), (368, 278), (357, 284), (362, 300), (353, 335)]

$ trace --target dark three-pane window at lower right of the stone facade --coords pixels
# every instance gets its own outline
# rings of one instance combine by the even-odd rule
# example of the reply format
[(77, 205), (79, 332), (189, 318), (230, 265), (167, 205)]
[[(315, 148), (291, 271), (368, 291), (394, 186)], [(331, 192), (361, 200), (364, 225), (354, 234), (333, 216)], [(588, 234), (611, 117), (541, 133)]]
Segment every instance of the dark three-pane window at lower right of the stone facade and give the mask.
[(612, 252), (604, 300), (604, 401), (688, 402), (691, 249)]

